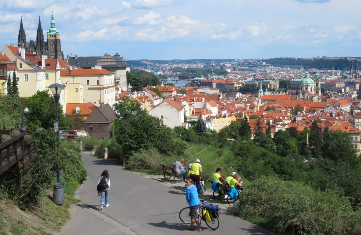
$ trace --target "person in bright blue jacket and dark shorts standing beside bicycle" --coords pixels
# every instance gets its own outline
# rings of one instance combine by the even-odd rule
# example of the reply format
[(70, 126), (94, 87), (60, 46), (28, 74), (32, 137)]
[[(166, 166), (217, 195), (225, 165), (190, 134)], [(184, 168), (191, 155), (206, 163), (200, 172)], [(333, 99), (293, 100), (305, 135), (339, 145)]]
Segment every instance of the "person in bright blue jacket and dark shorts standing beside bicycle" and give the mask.
[(197, 224), (197, 229), (195, 229), (195, 231), (202, 231), (198, 221), (198, 207), (200, 200), (198, 198), (197, 187), (193, 184), (192, 179), (187, 179), (186, 185), (186, 200), (190, 207), (189, 216), (191, 217), (191, 225), (187, 227), (187, 229), (193, 229), (193, 223), (195, 221)]

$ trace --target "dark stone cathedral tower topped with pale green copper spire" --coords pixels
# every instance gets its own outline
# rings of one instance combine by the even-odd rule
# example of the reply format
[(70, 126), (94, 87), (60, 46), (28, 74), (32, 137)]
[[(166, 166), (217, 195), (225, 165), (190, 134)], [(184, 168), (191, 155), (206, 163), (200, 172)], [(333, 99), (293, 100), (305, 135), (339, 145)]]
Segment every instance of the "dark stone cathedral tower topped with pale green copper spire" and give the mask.
[(63, 60), (60, 44), (60, 33), (59, 30), (55, 27), (53, 12), (51, 13), (50, 28), (47, 32), (47, 46), (49, 59)]

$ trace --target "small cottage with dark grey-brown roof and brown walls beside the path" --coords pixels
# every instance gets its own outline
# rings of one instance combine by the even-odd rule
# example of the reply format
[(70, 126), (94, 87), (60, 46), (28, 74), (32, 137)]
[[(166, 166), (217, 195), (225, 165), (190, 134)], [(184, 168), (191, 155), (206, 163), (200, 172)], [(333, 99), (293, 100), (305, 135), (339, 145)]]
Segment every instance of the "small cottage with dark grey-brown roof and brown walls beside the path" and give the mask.
[(84, 130), (91, 137), (113, 137), (113, 121), (118, 118), (108, 103), (95, 107), (85, 120)]

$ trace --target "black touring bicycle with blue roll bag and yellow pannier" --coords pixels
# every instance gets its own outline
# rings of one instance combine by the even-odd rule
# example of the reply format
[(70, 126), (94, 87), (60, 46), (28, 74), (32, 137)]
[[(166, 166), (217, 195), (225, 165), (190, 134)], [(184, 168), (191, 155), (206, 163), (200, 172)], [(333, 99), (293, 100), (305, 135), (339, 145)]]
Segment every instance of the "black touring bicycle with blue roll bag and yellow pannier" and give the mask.
[[(206, 220), (205, 216), (204, 216), (204, 203), (206, 203), (207, 201), (201, 201), (202, 205), (199, 205), (198, 208), (198, 221), (199, 221), (199, 225), (201, 224), (202, 220), (204, 220), (205, 224), (213, 230), (218, 229), (219, 227), (219, 216), (218, 213), (213, 213), (211, 211), (209, 211), (209, 213), (212, 214), (211, 220), (212, 222), (209, 222)], [(179, 212), (179, 219), (183, 222), (183, 223), (191, 223), (191, 218), (189, 216), (189, 212), (190, 212), (190, 207), (185, 207), (183, 208), (180, 212)]]

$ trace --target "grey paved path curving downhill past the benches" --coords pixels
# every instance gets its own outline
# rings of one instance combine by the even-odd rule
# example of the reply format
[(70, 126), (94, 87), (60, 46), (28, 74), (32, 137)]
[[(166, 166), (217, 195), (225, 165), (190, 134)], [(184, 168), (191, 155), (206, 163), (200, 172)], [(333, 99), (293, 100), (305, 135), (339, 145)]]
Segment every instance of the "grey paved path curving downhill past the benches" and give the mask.
[[(82, 153), (82, 160), (88, 171), (88, 179), (77, 191), (77, 198), (86, 205), (77, 205), (71, 220), (61, 235), (178, 235), (185, 234), (187, 225), (181, 223), (178, 212), (186, 207), (184, 193), (173, 192), (152, 179), (123, 170)], [(96, 184), (103, 170), (109, 170), (111, 188), (109, 207), (99, 211), (100, 197)], [(207, 234), (272, 234), (262, 227), (220, 211), (220, 226), (216, 231), (201, 227)], [(191, 233), (197, 233), (190, 231)], [(186, 232), (188, 234), (188, 232)]]

